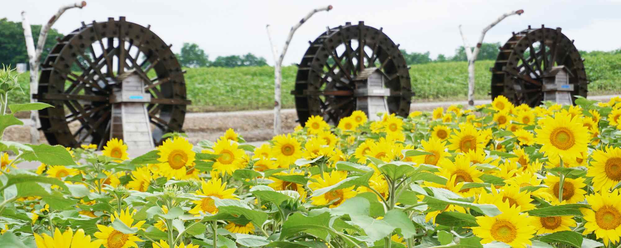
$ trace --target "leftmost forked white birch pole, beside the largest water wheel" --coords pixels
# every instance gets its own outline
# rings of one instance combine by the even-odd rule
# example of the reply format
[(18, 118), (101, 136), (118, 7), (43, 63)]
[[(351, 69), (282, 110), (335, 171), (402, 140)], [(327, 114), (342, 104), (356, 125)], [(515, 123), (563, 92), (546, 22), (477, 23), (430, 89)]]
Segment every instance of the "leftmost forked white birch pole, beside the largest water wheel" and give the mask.
[[(24, 29), (24, 38), (26, 40), (26, 51), (28, 53), (28, 62), (30, 65), (30, 102), (35, 102), (35, 99), (32, 98), (33, 94), (37, 94), (37, 88), (39, 87), (39, 61), (41, 60), (41, 53), (43, 52), (43, 48), (45, 47), (45, 40), (47, 39), (47, 33), (52, 29), (52, 25), (60, 18), (66, 10), (72, 8), (83, 8), (86, 6), (85, 1), (76, 2), (75, 4), (68, 4), (65, 6), (61, 6), (60, 9), (56, 12), (56, 14), (52, 15), (52, 18), (48, 20), (45, 26), (41, 27), (41, 31), (39, 32), (39, 40), (37, 40), (37, 48), (35, 48), (34, 40), (32, 38), (32, 29), (30, 29), (30, 22), (28, 20), (28, 16), (25, 11), (22, 11), (22, 28)], [(37, 143), (39, 141), (39, 112), (30, 111), (30, 120), (32, 121), (32, 126), (30, 127), (30, 143)]]

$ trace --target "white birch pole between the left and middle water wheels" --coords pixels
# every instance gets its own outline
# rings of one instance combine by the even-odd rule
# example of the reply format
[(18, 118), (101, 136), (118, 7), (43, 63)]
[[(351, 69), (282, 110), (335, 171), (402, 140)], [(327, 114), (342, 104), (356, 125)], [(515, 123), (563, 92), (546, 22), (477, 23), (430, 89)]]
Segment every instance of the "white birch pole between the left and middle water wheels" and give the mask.
[(274, 135), (279, 135), (281, 133), (281, 120), (280, 120), (280, 109), (281, 109), (281, 81), (283, 79), (281, 68), (283, 67), (283, 58), (287, 53), (287, 48), (289, 48), (289, 43), (291, 42), (291, 38), (293, 38), (293, 33), (296, 32), (299, 27), (304, 24), (308, 19), (312, 17), (317, 12), (320, 11), (330, 11), (332, 9), (332, 5), (327, 7), (322, 7), (319, 9), (313, 9), (311, 12), (306, 14), (302, 20), (300, 20), (296, 25), (291, 27), (289, 31), (289, 36), (287, 37), (286, 42), (284, 42), (283, 51), (280, 55), (278, 55), (278, 50), (274, 43), (272, 42), (271, 33), (270, 33), (270, 25), (266, 25), (266, 29), (268, 32), (268, 38), (270, 39), (270, 45), (272, 47), (272, 53), (274, 55)]

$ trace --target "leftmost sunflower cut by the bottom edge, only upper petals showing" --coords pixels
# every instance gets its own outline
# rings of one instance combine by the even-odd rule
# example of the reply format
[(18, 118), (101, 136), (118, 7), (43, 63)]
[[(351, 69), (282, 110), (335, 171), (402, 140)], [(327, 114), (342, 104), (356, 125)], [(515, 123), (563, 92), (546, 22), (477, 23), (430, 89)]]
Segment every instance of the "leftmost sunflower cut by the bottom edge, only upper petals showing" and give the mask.
[(41, 235), (35, 233), (34, 236), (38, 248), (99, 248), (102, 244), (101, 241), (91, 241), (91, 236), (84, 235), (83, 229), (78, 229), (74, 233), (73, 229), (67, 228), (61, 233), (57, 228), (53, 236), (46, 233)]

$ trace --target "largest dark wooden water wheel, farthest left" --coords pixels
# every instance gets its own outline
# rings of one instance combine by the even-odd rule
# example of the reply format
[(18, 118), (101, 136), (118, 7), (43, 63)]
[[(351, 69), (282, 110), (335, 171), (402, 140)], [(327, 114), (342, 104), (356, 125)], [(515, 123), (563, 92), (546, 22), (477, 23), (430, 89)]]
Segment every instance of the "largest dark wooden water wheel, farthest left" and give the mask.
[(128, 71), (144, 85), (137, 91), (148, 96), (142, 104), (147, 106), (145, 126), (152, 144), (160, 143), (164, 133), (181, 131), (190, 104), (184, 71), (150, 25), (143, 27), (120, 17), (83, 22), (58, 40), (43, 62), (34, 97), (54, 106), (39, 110), (40, 129), (48, 142), (69, 147), (91, 143), (101, 149), (111, 138), (112, 107), (120, 104), (115, 89)]

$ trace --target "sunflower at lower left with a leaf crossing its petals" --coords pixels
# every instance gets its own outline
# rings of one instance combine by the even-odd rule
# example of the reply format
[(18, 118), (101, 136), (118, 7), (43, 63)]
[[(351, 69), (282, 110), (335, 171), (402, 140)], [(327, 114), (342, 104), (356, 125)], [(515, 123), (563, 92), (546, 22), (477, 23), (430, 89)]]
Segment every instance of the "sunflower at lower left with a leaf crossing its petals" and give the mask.
[[(120, 219), (126, 226), (140, 229), (142, 224), (146, 221), (138, 221), (136, 224), (132, 225), (132, 223), (134, 223), (134, 213), (136, 213), (135, 210), (129, 213), (129, 208), (125, 208), (125, 211), (120, 211), (120, 215), (117, 211), (114, 211), (114, 215), (110, 216), (110, 222), (114, 222), (114, 219)], [(142, 242), (136, 234), (125, 234), (112, 228), (112, 226), (97, 224), (97, 229), (99, 229), (99, 232), (95, 232), (93, 235), (97, 237), (106, 248), (138, 247), (136, 242)]]

